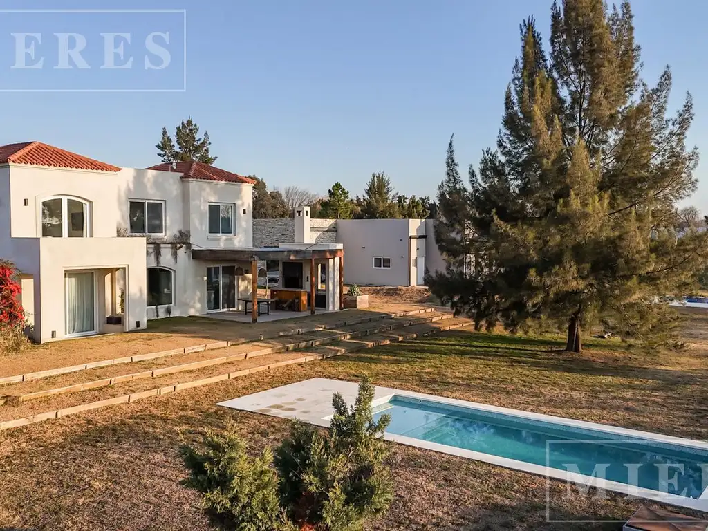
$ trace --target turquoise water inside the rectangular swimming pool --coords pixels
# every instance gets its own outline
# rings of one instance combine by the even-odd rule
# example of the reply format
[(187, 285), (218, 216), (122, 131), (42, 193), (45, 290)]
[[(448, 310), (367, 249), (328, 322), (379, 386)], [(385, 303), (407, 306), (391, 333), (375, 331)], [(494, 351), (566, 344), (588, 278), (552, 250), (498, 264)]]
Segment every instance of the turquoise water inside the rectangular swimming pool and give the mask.
[(388, 433), (587, 476), (607, 465), (599, 468), (605, 479), (653, 491), (699, 498), (708, 483), (708, 450), (700, 448), (398, 395), (375, 418), (384, 413)]

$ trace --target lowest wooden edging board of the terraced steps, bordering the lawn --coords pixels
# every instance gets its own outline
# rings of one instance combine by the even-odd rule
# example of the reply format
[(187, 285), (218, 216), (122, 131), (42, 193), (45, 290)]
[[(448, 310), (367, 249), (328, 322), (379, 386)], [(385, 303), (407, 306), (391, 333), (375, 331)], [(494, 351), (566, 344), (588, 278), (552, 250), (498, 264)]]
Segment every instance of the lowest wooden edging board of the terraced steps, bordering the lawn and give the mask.
[(431, 329), (426, 333), (415, 333), (409, 332), (402, 334), (401, 336), (396, 336), (394, 339), (385, 338), (376, 341), (363, 342), (350, 348), (341, 348), (334, 353), (326, 354), (313, 354), (306, 355), (302, 358), (295, 358), (293, 360), (285, 360), (280, 362), (271, 363), (270, 365), (260, 365), (258, 367), (250, 367), (249, 369), (242, 369), (235, 372), (229, 372), (223, 375), (212, 376), (208, 378), (202, 378), (193, 380), (192, 382), (183, 382), (181, 384), (169, 385), (167, 387), (159, 387), (157, 389), (149, 389), (148, 391), (141, 391), (132, 394), (123, 394), (121, 396), (115, 396), (110, 399), (98, 400), (95, 402), (89, 402), (88, 404), (79, 404), (78, 406), (67, 407), (64, 409), (58, 409), (55, 411), (47, 411), (46, 413), (37, 413), (36, 415), (16, 418), (12, 421), (0, 422), (0, 431), (8, 430), (10, 428), (19, 428), (21, 426), (27, 426), (28, 424), (34, 424), (42, 421), (48, 421), (52, 418), (62, 418), (69, 415), (74, 415), (76, 413), (82, 413), (84, 411), (91, 411), (92, 409), (99, 409), (105, 406), (114, 406), (116, 404), (129, 404), (138, 400), (146, 399), (151, 396), (159, 396), (163, 394), (174, 393), (182, 391), (184, 389), (192, 389), (193, 387), (202, 387), (203, 385), (209, 385), (216, 382), (222, 382), (226, 379), (239, 378), (241, 376), (251, 375), (255, 372), (261, 372), (264, 370), (272, 370), (278, 367), (284, 367), (285, 365), (293, 365), (295, 363), (306, 363), (314, 360), (324, 360), (326, 358), (332, 358), (333, 356), (346, 354), (350, 352), (355, 352), (356, 350), (361, 350), (363, 348), (373, 348), (375, 346), (387, 345), (389, 343), (398, 343), (400, 341), (406, 341), (407, 339), (414, 339), (421, 336), (432, 336), (436, 333), (446, 332), (455, 329), (465, 328), (467, 326), (474, 325), (474, 322), (453, 324), (450, 326), (445, 326), (440, 329)]

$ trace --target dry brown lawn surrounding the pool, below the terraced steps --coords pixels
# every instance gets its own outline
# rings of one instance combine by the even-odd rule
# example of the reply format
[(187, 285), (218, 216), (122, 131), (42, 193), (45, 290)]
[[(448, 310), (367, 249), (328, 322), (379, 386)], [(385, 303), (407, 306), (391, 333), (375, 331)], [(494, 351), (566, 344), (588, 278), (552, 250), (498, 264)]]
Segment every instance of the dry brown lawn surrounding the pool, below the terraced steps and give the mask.
[[(708, 312), (690, 315), (682, 353), (561, 338), (456, 331), (0, 433), (0, 528), (207, 530), (198, 496), (179, 481), (178, 450), (204, 428), (236, 423), (251, 451), (276, 445), (289, 422), (215, 404), (310, 377), (376, 384), (708, 439)], [(615, 529), (549, 523), (546, 480), (489, 464), (393, 445), (396, 498), (370, 530)], [(640, 506), (568, 494), (552, 482), (553, 520), (626, 520)]]

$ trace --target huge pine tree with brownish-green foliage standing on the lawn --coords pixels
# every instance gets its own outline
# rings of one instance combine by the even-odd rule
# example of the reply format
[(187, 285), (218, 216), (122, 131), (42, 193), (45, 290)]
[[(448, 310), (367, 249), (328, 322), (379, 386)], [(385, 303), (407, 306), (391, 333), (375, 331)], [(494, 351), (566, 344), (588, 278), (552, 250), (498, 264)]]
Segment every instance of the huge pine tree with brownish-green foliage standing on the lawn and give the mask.
[(535, 21), (521, 25), (497, 150), (469, 188), (450, 141), (436, 229), (449, 267), (430, 284), (479, 327), (556, 321), (573, 352), (600, 322), (666, 342), (661, 297), (694, 285), (708, 256), (677, 209), (696, 188), (691, 98), (667, 117), (668, 68), (653, 88), (639, 79), (629, 1), (564, 0), (551, 18), (548, 55)]

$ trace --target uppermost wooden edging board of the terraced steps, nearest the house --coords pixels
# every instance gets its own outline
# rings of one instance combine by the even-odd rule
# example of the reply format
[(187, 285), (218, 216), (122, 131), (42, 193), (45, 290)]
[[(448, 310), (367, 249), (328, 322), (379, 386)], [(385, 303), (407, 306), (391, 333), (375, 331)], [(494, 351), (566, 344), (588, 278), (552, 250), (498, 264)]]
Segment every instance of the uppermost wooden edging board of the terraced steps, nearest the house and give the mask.
[(398, 317), (404, 317), (409, 315), (426, 314), (430, 312), (438, 311), (435, 308), (421, 308), (416, 310), (408, 310), (406, 312), (397, 312), (386, 315), (376, 315), (371, 317), (363, 317), (362, 319), (353, 319), (351, 321), (337, 321), (332, 324), (319, 324), (316, 326), (311, 326), (309, 328), (296, 329), (295, 331), (283, 331), (272, 335), (263, 334), (262, 339), (253, 340), (236, 340), (236, 341), (216, 341), (215, 343), (205, 343), (204, 345), (195, 345), (191, 347), (184, 348), (173, 348), (171, 350), (161, 350), (160, 352), (153, 352), (147, 354), (136, 354), (132, 356), (125, 356), (123, 358), (114, 358), (112, 360), (99, 360), (89, 363), (82, 363), (81, 365), (71, 365), (69, 367), (57, 367), (55, 369), (40, 370), (38, 372), (28, 372), (24, 375), (14, 375), (6, 376), (0, 378), (1, 384), (13, 384), (17, 382), (28, 382), (32, 379), (47, 378), (50, 376), (64, 375), (68, 372), (79, 372), (81, 370), (96, 369), (97, 367), (107, 367), (108, 365), (120, 365), (122, 363), (135, 363), (138, 361), (154, 360), (155, 358), (165, 358), (166, 356), (173, 356), (178, 354), (190, 354), (195, 352), (202, 352), (202, 350), (215, 350), (217, 348), (226, 348), (231, 346), (243, 345), (244, 343), (254, 343), (256, 341), (264, 341), (266, 339), (275, 339), (283, 336), (297, 336), (302, 333), (311, 333), (322, 330), (331, 330), (341, 326), (355, 326), (358, 324), (364, 324), (367, 322), (373, 322), (383, 319), (396, 319)]

